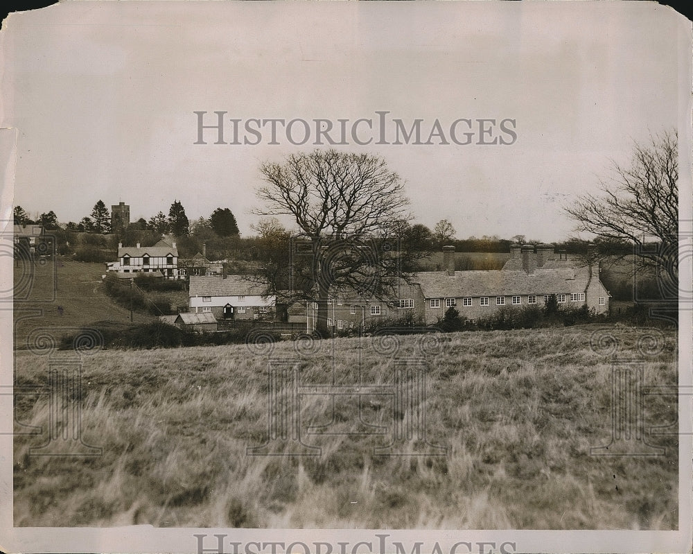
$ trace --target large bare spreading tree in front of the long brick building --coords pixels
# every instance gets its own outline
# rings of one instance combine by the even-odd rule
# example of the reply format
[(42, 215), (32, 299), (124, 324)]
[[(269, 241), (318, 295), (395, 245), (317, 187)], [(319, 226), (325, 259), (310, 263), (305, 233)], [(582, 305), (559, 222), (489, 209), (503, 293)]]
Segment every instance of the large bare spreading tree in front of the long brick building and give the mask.
[[(317, 331), (327, 334), (328, 296), (339, 291), (386, 297), (403, 277), (392, 242), (408, 200), (397, 173), (380, 157), (314, 150), (265, 163), (257, 191), (262, 216), (290, 215), (307, 263), (301, 293), (317, 297)], [(294, 247), (297, 245), (294, 244)], [(300, 264), (299, 264), (300, 265)]]

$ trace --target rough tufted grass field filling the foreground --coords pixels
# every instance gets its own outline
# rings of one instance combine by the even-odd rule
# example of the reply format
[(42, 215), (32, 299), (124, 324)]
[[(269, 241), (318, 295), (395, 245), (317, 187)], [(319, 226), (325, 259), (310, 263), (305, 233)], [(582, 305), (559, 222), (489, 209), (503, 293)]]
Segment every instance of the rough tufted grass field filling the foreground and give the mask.
[[(446, 457), (371, 456), (374, 436), (313, 435), (316, 458), (249, 457), (267, 426), (266, 356), (245, 345), (100, 352), (84, 365), (85, 442), (93, 459), (37, 458), (38, 438), (15, 439), (15, 525), (323, 528), (676, 528), (678, 458), (604, 458), (611, 365), (590, 348), (595, 327), (448, 335), (428, 370), (428, 436)], [(596, 329), (598, 330), (598, 329)], [(647, 331), (611, 329), (620, 355), (638, 356)], [(644, 384), (676, 383), (676, 336), (647, 356)], [(401, 337), (398, 355), (416, 352)], [(349, 382), (392, 382), (390, 356), (358, 339), (310, 356), (280, 343), (304, 383), (326, 383), (334, 360)], [(335, 354), (331, 347), (335, 346)], [(640, 356), (642, 357), (642, 356)], [(45, 358), (17, 353), (19, 384), (46, 381)], [(392, 424), (387, 397), (366, 397), (363, 419)], [(305, 422), (330, 419), (328, 397), (304, 397)], [(47, 399), (17, 404), (46, 425)], [(670, 397), (647, 397), (646, 425), (675, 421)], [(359, 427), (355, 399), (337, 402), (333, 431)]]

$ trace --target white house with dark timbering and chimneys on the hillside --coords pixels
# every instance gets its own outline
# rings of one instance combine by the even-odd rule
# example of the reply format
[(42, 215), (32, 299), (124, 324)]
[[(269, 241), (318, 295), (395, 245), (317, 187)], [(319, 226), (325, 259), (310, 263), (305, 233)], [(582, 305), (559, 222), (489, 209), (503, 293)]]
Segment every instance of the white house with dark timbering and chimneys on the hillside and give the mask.
[(119, 272), (132, 277), (132, 273), (160, 273), (168, 279), (179, 279), (178, 250), (175, 242), (161, 239), (154, 246), (123, 246), (118, 243), (118, 261), (106, 264), (108, 272)]

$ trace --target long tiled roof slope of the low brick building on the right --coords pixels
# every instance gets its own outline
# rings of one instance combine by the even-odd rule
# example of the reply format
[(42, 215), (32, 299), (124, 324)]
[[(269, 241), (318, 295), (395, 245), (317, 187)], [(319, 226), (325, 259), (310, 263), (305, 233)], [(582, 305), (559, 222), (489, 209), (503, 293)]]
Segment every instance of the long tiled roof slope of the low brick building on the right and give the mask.
[(522, 270), (455, 271), (454, 276), (427, 271), (414, 275), (426, 298), (584, 293), (588, 279), (587, 268), (541, 268), (533, 275)]

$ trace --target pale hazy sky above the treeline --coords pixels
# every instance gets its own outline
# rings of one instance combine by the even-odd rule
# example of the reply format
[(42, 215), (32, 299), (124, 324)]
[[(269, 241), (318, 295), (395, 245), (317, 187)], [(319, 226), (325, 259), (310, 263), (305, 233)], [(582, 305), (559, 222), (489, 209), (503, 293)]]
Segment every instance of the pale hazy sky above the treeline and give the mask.
[[(251, 234), (260, 164), (326, 146), (314, 129), (306, 144), (282, 130), (270, 144), (267, 126), (258, 144), (214, 144), (209, 129), (195, 144), (195, 112), (211, 124), (221, 111), (227, 142), (230, 119), (370, 119), (357, 138), (371, 144), (348, 133), (334, 148), (382, 156), (412, 222), (446, 218), (458, 238), (563, 240), (575, 226), (563, 208), (595, 192), (612, 161), (629, 164), (634, 141), (690, 126), (687, 31), (649, 2), (135, 0), (15, 14), (0, 36), (2, 144), (15, 139), (1, 215), (14, 204), (67, 223), (100, 199), (137, 220), (180, 200), (191, 220), (229, 207)], [(392, 120), (420, 119), (421, 142), (437, 120), (450, 144), (375, 144), (376, 112), (388, 112), (389, 143)], [(461, 119), (471, 144), (450, 138)], [(480, 119), (495, 120), (490, 135)], [(466, 122), (457, 130), (464, 142)]]

